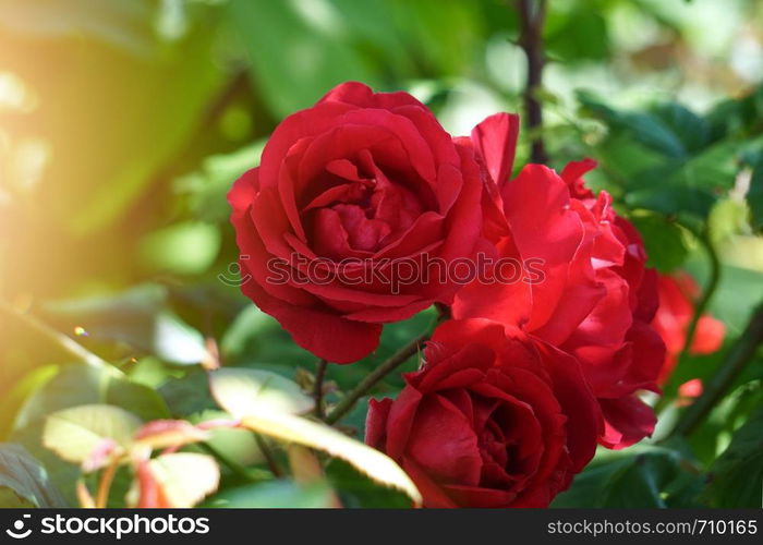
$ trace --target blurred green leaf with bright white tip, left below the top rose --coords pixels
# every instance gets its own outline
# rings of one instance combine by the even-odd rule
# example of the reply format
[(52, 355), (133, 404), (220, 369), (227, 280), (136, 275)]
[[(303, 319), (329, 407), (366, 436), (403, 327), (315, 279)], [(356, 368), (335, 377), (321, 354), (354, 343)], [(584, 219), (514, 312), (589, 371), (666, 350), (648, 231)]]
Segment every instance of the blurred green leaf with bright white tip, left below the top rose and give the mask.
[(125, 342), (175, 364), (205, 360), (204, 337), (180, 319), (167, 290), (141, 284), (123, 293), (48, 303), (46, 311), (62, 329), (84, 329), (88, 337)]

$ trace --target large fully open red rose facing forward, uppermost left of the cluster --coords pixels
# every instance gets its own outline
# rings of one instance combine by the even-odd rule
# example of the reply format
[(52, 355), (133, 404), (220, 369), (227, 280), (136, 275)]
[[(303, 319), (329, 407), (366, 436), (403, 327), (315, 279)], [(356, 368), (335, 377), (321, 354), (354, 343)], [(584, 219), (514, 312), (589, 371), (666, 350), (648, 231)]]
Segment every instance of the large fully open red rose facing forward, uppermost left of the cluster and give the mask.
[(451, 302), (453, 282), (415, 267), (473, 255), (481, 187), (472, 154), (411, 95), (339, 85), (283, 120), (229, 194), (242, 290), (301, 347), (356, 361), (382, 324)]

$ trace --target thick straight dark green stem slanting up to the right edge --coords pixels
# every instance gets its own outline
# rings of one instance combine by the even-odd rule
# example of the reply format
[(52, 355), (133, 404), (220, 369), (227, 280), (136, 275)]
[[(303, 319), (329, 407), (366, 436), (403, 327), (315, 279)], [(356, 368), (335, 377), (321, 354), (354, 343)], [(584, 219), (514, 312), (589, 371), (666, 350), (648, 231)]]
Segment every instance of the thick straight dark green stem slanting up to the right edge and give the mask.
[(761, 344), (763, 344), (763, 303), (758, 305), (744, 328), (744, 332), (731, 347), (726, 361), (710, 379), (700, 399), (686, 410), (668, 437), (691, 434), (728, 391), (747, 364), (753, 360), (758, 347)]

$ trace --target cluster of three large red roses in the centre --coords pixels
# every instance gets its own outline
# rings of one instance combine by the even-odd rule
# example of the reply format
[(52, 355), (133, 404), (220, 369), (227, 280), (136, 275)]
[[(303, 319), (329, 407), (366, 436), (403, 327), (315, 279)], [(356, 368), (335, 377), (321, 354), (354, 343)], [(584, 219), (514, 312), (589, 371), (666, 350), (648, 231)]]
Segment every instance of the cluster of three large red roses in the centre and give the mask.
[[(665, 348), (641, 238), (608, 194), (585, 187), (591, 160), (510, 179), (518, 130), (496, 114), (451, 138), (410, 95), (347, 83), (284, 120), (229, 197), (244, 293), (320, 358), (356, 361), (383, 324), (450, 306), (423, 368), (368, 412), (367, 441), (427, 506), (547, 506), (597, 443), (626, 447), (655, 424), (638, 392), (658, 391)], [(448, 265), (477, 253), (543, 274), (496, 281), (494, 266), (400, 291), (295, 280), (311, 278), (295, 256), (361, 275), (389, 257)], [(268, 281), (272, 258), (284, 282)]]

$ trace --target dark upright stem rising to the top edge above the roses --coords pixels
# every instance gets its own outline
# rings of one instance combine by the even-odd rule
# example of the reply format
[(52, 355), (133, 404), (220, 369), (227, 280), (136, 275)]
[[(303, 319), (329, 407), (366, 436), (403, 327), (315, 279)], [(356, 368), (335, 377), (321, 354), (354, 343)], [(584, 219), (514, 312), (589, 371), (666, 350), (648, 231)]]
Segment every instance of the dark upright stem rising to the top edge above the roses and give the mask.
[(543, 23), (546, 17), (546, 0), (517, 0), (519, 12), (519, 45), (528, 58), (528, 84), (524, 88), (524, 110), (532, 138), (530, 158), (532, 162), (545, 164), (548, 160), (541, 130), (543, 128), (543, 106), (537, 92), (543, 88)]

